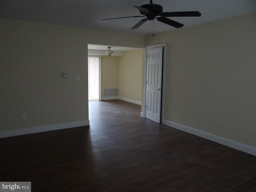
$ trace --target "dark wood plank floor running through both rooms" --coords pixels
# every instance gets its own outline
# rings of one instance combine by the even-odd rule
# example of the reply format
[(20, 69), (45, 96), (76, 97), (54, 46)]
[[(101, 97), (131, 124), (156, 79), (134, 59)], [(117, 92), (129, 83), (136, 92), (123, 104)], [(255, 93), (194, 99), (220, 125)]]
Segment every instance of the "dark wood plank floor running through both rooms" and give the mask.
[(256, 192), (256, 157), (140, 117), (121, 100), (89, 102), (90, 127), (0, 139), (0, 181), (33, 192)]

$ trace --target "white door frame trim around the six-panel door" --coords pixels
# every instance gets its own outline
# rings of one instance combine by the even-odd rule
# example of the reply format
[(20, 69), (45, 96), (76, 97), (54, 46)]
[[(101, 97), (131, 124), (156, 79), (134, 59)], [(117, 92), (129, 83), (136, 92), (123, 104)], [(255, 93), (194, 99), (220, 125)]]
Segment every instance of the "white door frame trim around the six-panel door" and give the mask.
[(147, 52), (148, 49), (152, 48), (158, 48), (162, 47), (163, 48), (163, 65), (162, 65), (162, 98), (161, 98), (161, 114), (160, 114), (160, 123), (163, 122), (164, 120), (164, 92), (165, 92), (165, 68), (166, 68), (166, 43), (163, 44), (155, 44), (155, 45), (150, 45), (145, 47), (145, 52), (144, 52), (144, 70), (143, 70), (143, 97), (142, 97), (142, 112), (140, 113), (141, 117), (146, 118), (146, 78), (147, 78)]

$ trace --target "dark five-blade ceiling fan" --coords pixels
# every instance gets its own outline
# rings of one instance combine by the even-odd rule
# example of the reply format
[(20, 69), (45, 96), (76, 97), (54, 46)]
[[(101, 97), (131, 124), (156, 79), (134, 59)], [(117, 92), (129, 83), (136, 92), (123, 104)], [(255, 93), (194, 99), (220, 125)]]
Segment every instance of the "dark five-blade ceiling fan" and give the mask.
[[(147, 17), (145, 19), (140, 20), (136, 25), (134, 25), (131, 29), (139, 28), (144, 22), (147, 20), (156, 20), (173, 26), (175, 28), (183, 27), (184, 24), (176, 22), (174, 20), (168, 19), (166, 17), (199, 17), (201, 13), (198, 11), (181, 11), (181, 12), (163, 12), (163, 7), (158, 4), (153, 4), (152, 0), (150, 0), (150, 4), (144, 4), (142, 6), (134, 6), (143, 16), (128, 16), (128, 17), (117, 17), (110, 19), (120, 19), (120, 18), (129, 18), (129, 17)], [(102, 19), (102, 20), (110, 20), (110, 19)]]

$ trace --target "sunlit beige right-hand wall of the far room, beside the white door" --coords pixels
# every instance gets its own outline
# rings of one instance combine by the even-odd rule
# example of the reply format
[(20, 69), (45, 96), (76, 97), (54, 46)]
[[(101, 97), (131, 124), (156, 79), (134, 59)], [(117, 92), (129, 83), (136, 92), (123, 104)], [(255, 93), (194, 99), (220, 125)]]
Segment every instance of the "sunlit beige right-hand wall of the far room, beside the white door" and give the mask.
[(125, 52), (119, 57), (118, 96), (141, 102), (144, 50)]

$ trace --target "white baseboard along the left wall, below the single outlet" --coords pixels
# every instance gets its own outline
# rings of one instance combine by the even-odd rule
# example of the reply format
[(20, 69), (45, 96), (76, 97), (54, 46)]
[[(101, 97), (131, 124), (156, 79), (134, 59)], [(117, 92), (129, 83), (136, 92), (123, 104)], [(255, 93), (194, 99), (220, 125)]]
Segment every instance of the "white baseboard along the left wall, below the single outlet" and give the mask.
[(67, 129), (72, 127), (87, 126), (87, 125), (90, 125), (89, 120), (38, 126), (38, 127), (30, 127), (30, 128), (16, 129), (16, 130), (10, 130), (10, 131), (0, 131), (0, 138), (25, 135), (25, 134), (31, 134), (31, 133), (46, 132), (46, 131), (59, 130), (59, 129)]

